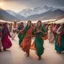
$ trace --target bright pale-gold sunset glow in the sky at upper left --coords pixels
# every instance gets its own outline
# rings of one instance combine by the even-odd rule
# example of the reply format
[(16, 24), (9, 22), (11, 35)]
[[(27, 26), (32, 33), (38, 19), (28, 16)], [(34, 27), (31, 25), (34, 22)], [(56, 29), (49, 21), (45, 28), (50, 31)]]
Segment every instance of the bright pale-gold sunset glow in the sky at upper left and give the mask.
[(4, 10), (12, 10), (15, 12), (19, 12), (23, 9), (26, 9), (27, 6), (23, 5), (23, 4), (19, 4), (17, 2), (2, 1), (2, 2), (0, 2), (0, 8), (2, 8)]

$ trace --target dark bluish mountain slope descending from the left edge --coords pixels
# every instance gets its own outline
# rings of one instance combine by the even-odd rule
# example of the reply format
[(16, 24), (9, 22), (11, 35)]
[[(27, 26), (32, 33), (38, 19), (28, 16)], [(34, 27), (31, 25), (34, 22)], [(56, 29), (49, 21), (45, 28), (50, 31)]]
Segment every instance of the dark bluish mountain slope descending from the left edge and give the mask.
[(9, 14), (5, 10), (0, 8), (0, 19), (6, 20), (6, 21), (12, 21), (12, 20), (19, 20), (17, 17)]

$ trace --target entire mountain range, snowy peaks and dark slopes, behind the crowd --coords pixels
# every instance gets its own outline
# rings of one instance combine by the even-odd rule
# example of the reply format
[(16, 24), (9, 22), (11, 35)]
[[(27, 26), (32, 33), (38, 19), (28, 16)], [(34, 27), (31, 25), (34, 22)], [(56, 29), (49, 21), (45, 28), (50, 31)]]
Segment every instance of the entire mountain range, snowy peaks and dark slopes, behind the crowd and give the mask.
[(24, 9), (19, 13), (0, 9), (0, 19), (4, 20), (48, 20), (64, 18), (64, 9), (49, 6)]

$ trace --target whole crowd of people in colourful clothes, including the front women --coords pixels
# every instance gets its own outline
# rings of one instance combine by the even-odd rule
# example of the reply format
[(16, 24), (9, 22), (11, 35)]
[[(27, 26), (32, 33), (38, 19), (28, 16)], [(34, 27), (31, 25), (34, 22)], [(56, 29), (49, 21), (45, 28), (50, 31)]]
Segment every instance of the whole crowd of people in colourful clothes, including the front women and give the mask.
[[(0, 23), (0, 52), (6, 51), (6, 49), (12, 46), (12, 40), (18, 34), (19, 46), (26, 52), (27, 57), (30, 56), (30, 49), (36, 50), (38, 59), (41, 59), (41, 55), (44, 53), (44, 40), (49, 40), (50, 43), (55, 44), (55, 50), (57, 53), (64, 51), (64, 24), (47, 24), (42, 23), (40, 20), (37, 23), (32, 23), (30, 20), (26, 26), (23, 22), (14, 24)], [(31, 45), (32, 38), (35, 37), (34, 42)]]

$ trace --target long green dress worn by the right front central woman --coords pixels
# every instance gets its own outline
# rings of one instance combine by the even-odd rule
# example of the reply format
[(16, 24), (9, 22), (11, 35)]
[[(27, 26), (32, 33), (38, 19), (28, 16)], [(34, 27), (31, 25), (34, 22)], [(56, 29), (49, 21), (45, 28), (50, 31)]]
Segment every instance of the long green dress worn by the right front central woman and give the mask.
[[(47, 30), (42, 27), (41, 30), (45, 33), (47, 32)], [(41, 56), (44, 52), (44, 40), (42, 39), (42, 36), (44, 36), (44, 34), (42, 32), (36, 33), (37, 32), (37, 27), (34, 29), (33, 34), (35, 34), (35, 48), (36, 48), (36, 53), (38, 56)]]

